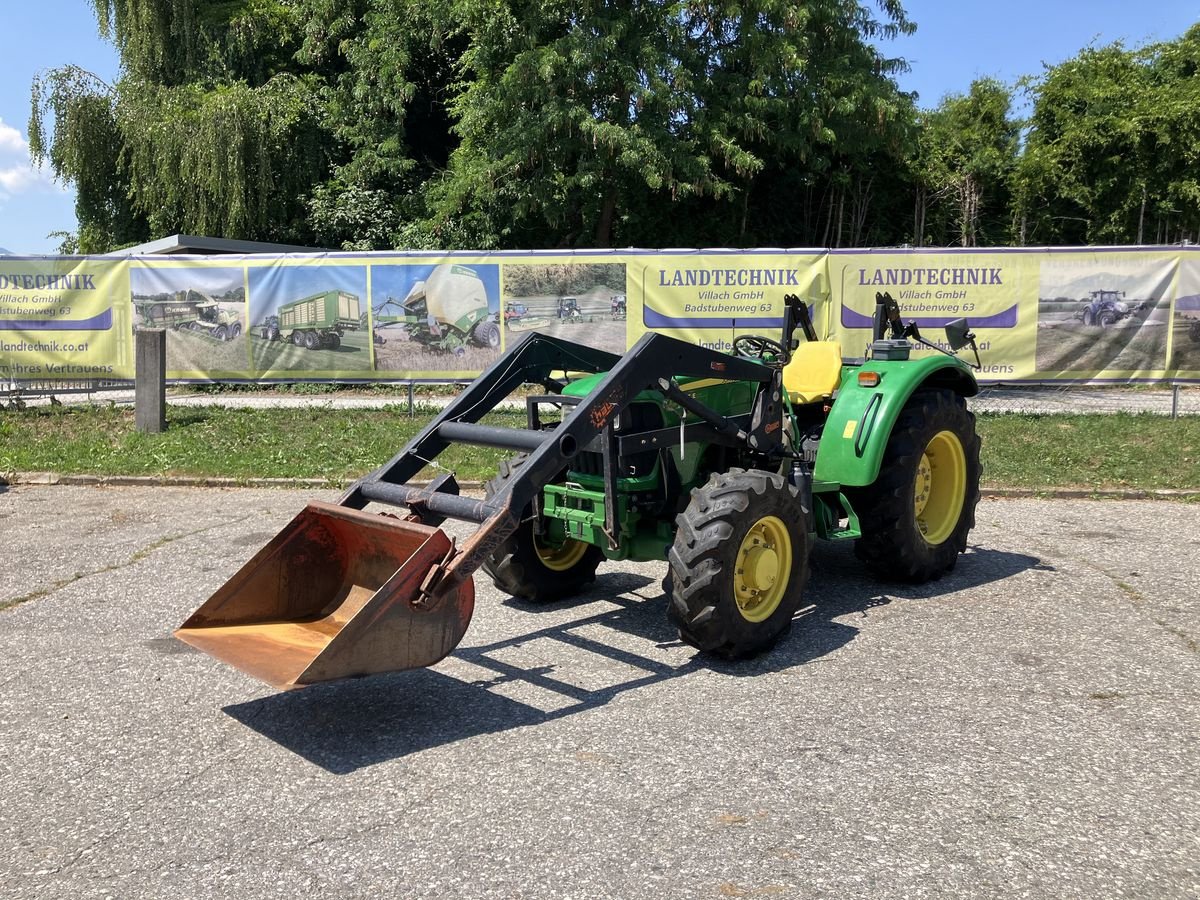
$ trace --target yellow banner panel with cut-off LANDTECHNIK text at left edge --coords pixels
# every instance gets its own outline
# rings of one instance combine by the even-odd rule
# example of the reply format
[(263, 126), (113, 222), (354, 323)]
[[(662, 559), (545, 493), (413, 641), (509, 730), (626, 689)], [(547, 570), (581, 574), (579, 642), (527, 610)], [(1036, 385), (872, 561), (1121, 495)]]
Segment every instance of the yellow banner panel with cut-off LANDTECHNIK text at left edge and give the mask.
[(131, 378), (128, 269), (113, 259), (0, 258), (0, 378)]

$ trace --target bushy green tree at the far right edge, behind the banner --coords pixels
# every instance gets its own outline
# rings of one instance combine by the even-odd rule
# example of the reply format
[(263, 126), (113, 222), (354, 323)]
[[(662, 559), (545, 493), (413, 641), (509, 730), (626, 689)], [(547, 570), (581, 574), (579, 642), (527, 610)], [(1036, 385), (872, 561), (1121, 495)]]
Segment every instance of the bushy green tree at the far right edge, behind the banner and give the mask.
[(1141, 244), (1200, 229), (1200, 26), (1086, 48), (1032, 84), (1018, 212), (1031, 240)]

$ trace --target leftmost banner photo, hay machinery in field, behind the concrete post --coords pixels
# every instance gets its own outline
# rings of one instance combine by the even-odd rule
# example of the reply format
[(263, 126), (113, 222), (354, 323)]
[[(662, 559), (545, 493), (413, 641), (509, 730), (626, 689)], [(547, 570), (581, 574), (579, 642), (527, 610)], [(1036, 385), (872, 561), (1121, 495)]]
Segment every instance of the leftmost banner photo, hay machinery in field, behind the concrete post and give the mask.
[(246, 288), (241, 266), (130, 270), (134, 328), (167, 331), (167, 377), (246, 371)]

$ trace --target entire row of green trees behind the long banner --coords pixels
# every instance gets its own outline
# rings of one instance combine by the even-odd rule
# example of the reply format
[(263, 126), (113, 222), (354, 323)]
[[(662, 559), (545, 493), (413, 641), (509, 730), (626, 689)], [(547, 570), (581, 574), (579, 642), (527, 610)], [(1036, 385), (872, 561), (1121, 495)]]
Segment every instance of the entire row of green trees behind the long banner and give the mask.
[(1200, 229), (1200, 26), (919, 110), (900, 0), (91, 0), (38, 76), (65, 245), (1152, 242)]

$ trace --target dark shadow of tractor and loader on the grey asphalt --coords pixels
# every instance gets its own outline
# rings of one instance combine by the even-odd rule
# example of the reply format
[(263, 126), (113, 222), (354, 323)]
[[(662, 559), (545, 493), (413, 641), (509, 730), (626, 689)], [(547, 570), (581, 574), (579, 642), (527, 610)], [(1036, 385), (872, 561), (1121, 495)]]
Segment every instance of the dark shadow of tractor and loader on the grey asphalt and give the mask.
[[(822, 546), (797, 616), (768, 653), (726, 661), (683, 644), (665, 614), (658, 580), (605, 572), (570, 607), (509, 600), (552, 624), (475, 647), (460, 646), (437, 668), (334, 682), (224, 707), (229, 716), (332, 774), (403, 758), (596, 709), (629, 691), (695, 673), (748, 678), (793, 668), (854, 640), (856, 619), (902, 601), (968, 590), (1039, 559), (977, 547), (954, 571), (920, 586), (865, 576), (850, 546)], [(602, 608), (596, 612), (596, 606)], [(580, 614), (571, 614), (578, 607)], [(565, 616), (564, 616), (565, 613)]]

